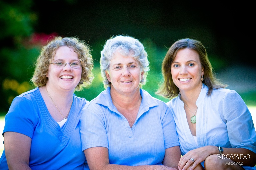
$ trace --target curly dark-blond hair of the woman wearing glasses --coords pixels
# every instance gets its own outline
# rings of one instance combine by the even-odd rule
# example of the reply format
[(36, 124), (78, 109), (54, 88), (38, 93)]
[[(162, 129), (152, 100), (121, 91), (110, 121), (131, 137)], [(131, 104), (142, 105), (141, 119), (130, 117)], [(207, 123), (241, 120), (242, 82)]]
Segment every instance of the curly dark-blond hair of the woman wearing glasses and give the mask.
[(36, 68), (30, 81), (36, 87), (46, 85), (46, 82), (48, 81), (46, 75), (48, 74), (49, 64), (54, 59), (56, 49), (60, 46), (72, 47), (78, 54), (78, 59), (80, 60), (82, 67), (82, 74), (81, 80), (77, 84), (75, 91), (80, 91), (83, 87), (91, 84), (94, 78), (92, 73), (94, 64), (90, 46), (84, 41), (80, 41), (78, 37), (54, 37), (47, 45), (43, 46), (35, 63)]

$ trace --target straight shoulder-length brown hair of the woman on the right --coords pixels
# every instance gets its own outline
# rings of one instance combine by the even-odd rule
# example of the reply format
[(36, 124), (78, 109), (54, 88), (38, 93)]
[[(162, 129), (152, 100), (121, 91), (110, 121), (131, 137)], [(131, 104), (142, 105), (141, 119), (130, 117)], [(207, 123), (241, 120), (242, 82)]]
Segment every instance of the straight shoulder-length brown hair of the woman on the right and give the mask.
[(174, 42), (168, 49), (162, 62), (162, 74), (164, 77), (164, 82), (160, 85), (156, 94), (168, 99), (178, 96), (180, 90), (172, 80), (171, 65), (178, 50), (184, 48), (193, 49), (199, 54), (200, 63), (204, 68), (203, 83), (209, 88), (207, 96), (211, 95), (213, 89), (227, 87), (226, 84), (221, 83), (216, 78), (216, 74), (213, 71), (205, 46), (198, 40), (186, 38)]

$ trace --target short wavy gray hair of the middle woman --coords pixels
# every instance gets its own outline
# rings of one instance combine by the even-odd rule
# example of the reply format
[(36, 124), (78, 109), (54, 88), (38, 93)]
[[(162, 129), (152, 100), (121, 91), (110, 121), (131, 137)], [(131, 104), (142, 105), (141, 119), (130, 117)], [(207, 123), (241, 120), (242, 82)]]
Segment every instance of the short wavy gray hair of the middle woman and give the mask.
[(117, 35), (107, 40), (101, 51), (100, 69), (104, 88), (111, 86), (111, 82), (108, 81), (105, 71), (109, 71), (110, 61), (116, 51), (120, 52), (123, 56), (132, 56), (139, 61), (140, 69), (144, 72), (140, 81), (140, 87), (144, 85), (149, 71), (149, 61), (143, 44), (133, 37)]

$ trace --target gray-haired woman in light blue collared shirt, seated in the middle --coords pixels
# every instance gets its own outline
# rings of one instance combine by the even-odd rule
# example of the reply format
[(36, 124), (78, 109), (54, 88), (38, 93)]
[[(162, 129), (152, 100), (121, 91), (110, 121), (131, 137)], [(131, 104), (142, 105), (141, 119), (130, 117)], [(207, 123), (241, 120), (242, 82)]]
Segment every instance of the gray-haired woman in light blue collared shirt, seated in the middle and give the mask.
[(164, 102), (141, 88), (149, 71), (142, 43), (111, 37), (100, 65), (106, 89), (81, 115), (90, 170), (174, 170), (181, 158), (174, 118)]

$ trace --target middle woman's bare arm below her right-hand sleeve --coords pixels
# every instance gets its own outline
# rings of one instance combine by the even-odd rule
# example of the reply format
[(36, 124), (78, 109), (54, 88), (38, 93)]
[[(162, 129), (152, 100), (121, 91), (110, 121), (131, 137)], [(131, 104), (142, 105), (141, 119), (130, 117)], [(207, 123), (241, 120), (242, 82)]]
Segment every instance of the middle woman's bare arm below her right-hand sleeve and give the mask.
[(165, 155), (163, 165), (177, 168), (179, 160), (181, 158), (181, 152), (179, 146), (173, 146), (165, 149)]

